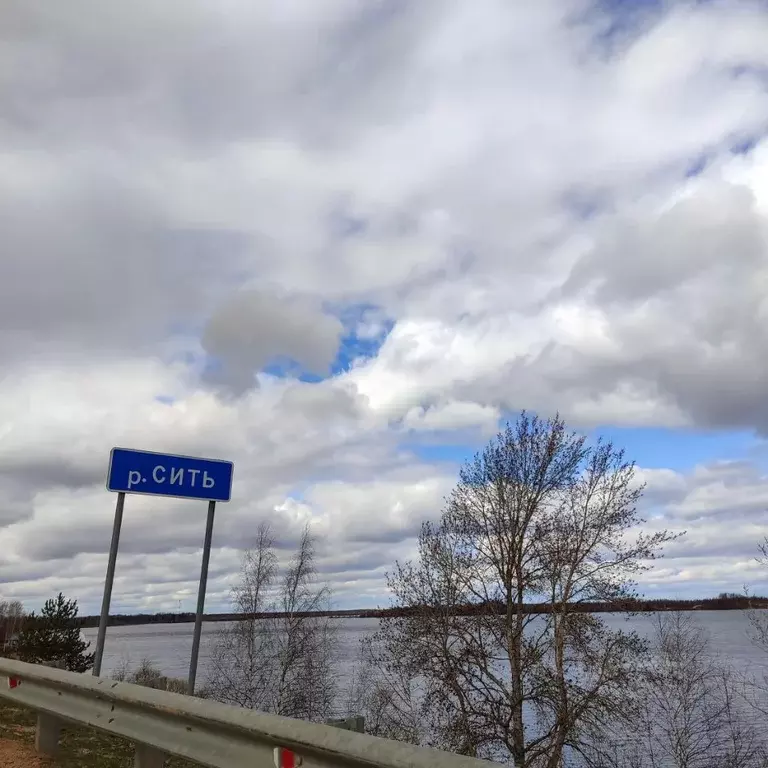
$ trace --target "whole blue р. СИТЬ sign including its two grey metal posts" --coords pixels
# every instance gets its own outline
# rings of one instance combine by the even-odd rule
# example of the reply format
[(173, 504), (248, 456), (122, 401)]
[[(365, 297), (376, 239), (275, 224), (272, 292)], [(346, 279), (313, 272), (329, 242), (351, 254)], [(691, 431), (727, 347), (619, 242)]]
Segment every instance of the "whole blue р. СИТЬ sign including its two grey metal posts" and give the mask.
[(115, 564), (120, 542), (120, 528), (123, 522), (125, 494), (146, 496), (173, 496), (182, 499), (208, 501), (208, 519), (203, 542), (203, 562), (200, 570), (200, 587), (197, 595), (195, 631), (192, 638), (192, 658), (189, 664), (187, 693), (195, 692), (197, 658), (200, 652), (200, 635), (203, 626), (205, 591), (208, 583), (208, 563), (213, 540), (213, 518), (217, 501), (229, 501), (232, 497), (232, 476), (234, 465), (231, 461), (218, 459), (197, 459), (192, 456), (175, 456), (152, 451), (133, 451), (127, 448), (113, 448), (109, 457), (107, 490), (117, 493), (115, 522), (112, 528), (112, 542), (104, 581), (104, 598), (99, 617), (99, 634), (96, 637), (96, 653), (93, 674), (101, 674), (104, 643), (109, 620), (109, 604), (112, 598), (112, 584), (115, 580)]

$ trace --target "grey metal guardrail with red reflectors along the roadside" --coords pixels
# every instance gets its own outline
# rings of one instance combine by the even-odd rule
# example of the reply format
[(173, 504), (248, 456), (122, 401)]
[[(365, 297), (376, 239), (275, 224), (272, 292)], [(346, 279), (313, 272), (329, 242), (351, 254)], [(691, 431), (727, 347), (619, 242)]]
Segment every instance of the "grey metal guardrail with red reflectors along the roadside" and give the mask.
[(38, 752), (55, 755), (62, 727), (74, 723), (132, 741), (136, 768), (162, 768), (170, 755), (208, 768), (488, 766), (333, 725), (3, 658), (0, 697), (37, 712)]

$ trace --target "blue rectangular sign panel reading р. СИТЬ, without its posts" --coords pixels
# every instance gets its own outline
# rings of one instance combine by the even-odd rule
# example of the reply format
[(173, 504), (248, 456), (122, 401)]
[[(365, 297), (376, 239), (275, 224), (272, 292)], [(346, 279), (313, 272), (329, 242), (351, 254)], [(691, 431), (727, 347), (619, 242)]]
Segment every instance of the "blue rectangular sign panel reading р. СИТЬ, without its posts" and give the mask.
[(229, 501), (233, 470), (231, 461), (113, 448), (109, 454), (107, 490)]

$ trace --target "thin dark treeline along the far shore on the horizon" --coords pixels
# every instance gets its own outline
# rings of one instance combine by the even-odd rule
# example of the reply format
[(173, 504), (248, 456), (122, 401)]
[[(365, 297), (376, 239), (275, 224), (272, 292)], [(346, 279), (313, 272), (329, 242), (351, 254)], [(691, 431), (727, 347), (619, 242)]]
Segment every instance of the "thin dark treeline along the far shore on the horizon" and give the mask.
[[(748, 597), (737, 594), (721, 594), (718, 597), (702, 598), (699, 600), (643, 600), (626, 599), (619, 602), (610, 603), (577, 603), (571, 606), (571, 610), (581, 611), (583, 613), (639, 613), (654, 611), (737, 611), (747, 610), (749, 608), (768, 608), (768, 597)], [(527, 603), (523, 606), (525, 613), (550, 613), (552, 605), (550, 603)], [(317, 611), (310, 613), (301, 613), (305, 616), (331, 616), (337, 618), (361, 618), (361, 619), (381, 619), (396, 618), (401, 616), (412, 616), (428, 613), (429, 608), (410, 607), (410, 608), (358, 608), (343, 611)], [(457, 616), (475, 616), (478, 614), (497, 613), (504, 614), (506, 607), (501, 603), (472, 603), (456, 609)], [(204, 620), (212, 621), (238, 621), (250, 618), (267, 618), (280, 616), (279, 613), (256, 613), (244, 615), (242, 613), (208, 613)], [(298, 616), (299, 614), (297, 614)], [(189, 612), (183, 613), (135, 613), (135, 614), (116, 614), (109, 617), (110, 626), (139, 625), (139, 624), (187, 624), (195, 620), (195, 614)], [(78, 626), (82, 628), (98, 627), (98, 616), (82, 616), (77, 619)]]

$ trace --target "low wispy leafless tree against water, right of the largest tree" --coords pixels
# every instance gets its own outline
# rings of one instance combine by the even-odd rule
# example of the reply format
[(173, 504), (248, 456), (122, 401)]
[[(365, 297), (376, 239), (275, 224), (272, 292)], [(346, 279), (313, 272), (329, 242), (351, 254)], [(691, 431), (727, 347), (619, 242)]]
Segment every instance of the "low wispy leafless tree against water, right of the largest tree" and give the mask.
[[(634, 716), (593, 764), (627, 768), (760, 768), (764, 755), (741, 687), (695, 614), (658, 613)], [(605, 745), (603, 745), (605, 747)]]

